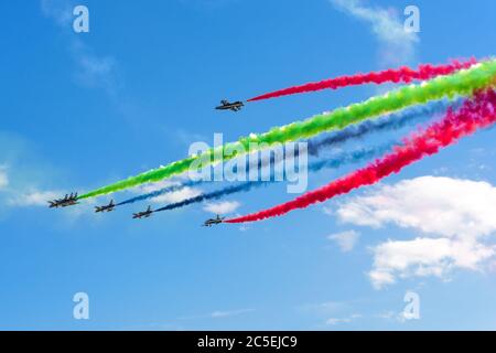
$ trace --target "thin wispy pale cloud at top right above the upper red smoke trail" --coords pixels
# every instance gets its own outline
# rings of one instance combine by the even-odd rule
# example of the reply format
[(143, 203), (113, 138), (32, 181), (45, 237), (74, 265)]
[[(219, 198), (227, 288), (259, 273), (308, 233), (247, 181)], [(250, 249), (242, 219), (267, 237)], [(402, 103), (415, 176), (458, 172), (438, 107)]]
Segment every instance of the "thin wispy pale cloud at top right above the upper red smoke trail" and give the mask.
[(365, 7), (359, 0), (331, 0), (336, 9), (367, 22), (380, 43), (381, 65), (400, 65), (414, 56), (418, 35), (405, 31), (403, 21), (393, 9)]

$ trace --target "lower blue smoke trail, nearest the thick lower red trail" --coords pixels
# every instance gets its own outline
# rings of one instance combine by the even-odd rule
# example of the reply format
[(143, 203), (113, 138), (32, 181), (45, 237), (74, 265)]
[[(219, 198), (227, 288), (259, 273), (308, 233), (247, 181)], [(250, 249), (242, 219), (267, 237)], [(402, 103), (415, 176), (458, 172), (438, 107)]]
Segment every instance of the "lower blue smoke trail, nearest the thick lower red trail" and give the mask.
[[(321, 160), (313, 162), (309, 164), (309, 171), (319, 171), (324, 168), (339, 168), (347, 163), (357, 163), (366, 159), (374, 158), (375, 156), (379, 156), (381, 153), (385, 153), (387, 150), (391, 149), (393, 146), (393, 142), (386, 143), (376, 148), (364, 148), (359, 149), (353, 152), (342, 153), (337, 157), (334, 157), (328, 160)], [(223, 188), (220, 190), (216, 190), (213, 192), (206, 192), (203, 194), (200, 194), (194, 197), (190, 197), (180, 202), (171, 203), (166, 206), (163, 206), (161, 208), (155, 210), (154, 212), (162, 212), (162, 211), (170, 211), (175, 208), (181, 208), (187, 205), (191, 205), (193, 203), (204, 202), (208, 200), (217, 200), (220, 197), (224, 197), (226, 195), (230, 195), (238, 192), (246, 192), (250, 191), (254, 188), (259, 188), (267, 185), (269, 183), (273, 183), (273, 181), (247, 181), (237, 185), (229, 185), (226, 188)]]

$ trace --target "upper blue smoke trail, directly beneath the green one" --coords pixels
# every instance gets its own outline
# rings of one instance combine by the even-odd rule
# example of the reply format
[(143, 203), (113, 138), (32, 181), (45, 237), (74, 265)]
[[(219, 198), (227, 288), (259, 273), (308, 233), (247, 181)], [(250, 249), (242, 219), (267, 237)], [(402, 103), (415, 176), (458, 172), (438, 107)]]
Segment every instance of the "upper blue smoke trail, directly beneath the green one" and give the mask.
[[(407, 108), (399, 113), (389, 114), (382, 116), (375, 120), (366, 120), (364, 122), (348, 126), (347, 128), (332, 132), (328, 137), (323, 139), (312, 138), (308, 142), (308, 152), (311, 156), (319, 156), (322, 149), (327, 149), (332, 146), (337, 146), (339, 143), (346, 142), (351, 139), (362, 138), (370, 132), (381, 132), (388, 130), (396, 130), (403, 128), (410, 124), (419, 122), (421, 120), (431, 118), (432, 116), (436, 116), (439, 114), (444, 114), (448, 107), (459, 107), (462, 103), (462, 99), (456, 99), (454, 101), (450, 101), (448, 99), (431, 101), (423, 106)], [(298, 152), (299, 150), (295, 150)], [(296, 154), (295, 154), (296, 156)], [(273, 156), (271, 156), (270, 160), (265, 161), (267, 163), (273, 163)], [(265, 168), (266, 164), (258, 164), (258, 169)], [(248, 168), (249, 165), (247, 165)], [(249, 171), (247, 170), (248, 174)], [(145, 193), (139, 196), (134, 196), (132, 199), (126, 200), (117, 204), (118, 206), (125, 204), (131, 204), (139, 201), (144, 201), (149, 199), (153, 199), (170, 192), (182, 190), (186, 186), (196, 186), (203, 183), (203, 180), (193, 181), (188, 180), (182, 184), (170, 185), (163, 189), (152, 191), (150, 193)]]

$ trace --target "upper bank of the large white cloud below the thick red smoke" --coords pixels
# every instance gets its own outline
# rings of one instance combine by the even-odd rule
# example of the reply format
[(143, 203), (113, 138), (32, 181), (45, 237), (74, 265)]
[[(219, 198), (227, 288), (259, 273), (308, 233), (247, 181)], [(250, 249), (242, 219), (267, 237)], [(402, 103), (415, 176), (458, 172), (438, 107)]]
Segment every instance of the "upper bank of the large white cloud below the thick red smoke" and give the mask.
[(379, 227), (393, 223), (428, 234), (479, 236), (496, 231), (496, 188), (443, 176), (384, 185), (339, 205), (341, 220)]

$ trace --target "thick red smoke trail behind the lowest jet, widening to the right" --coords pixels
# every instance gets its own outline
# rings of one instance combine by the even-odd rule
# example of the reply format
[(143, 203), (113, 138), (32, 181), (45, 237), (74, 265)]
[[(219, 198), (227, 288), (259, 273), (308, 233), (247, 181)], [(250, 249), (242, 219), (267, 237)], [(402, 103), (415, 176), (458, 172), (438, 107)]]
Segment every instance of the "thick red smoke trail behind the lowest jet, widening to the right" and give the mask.
[(283, 215), (296, 208), (323, 202), (352, 190), (377, 183), (391, 173), (398, 173), (402, 168), (423, 157), (434, 154), (440, 148), (456, 142), (460, 138), (485, 128), (496, 121), (496, 93), (487, 90), (477, 93), (473, 99), (467, 99), (457, 111), (450, 109), (445, 117), (432, 124), (427, 129), (414, 132), (403, 141), (402, 146), (395, 147), (393, 151), (376, 160), (371, 164), (337, 179), (327, 185), (311, 191), (293, 201), (280, 204), (272, 208), (252, 213), (231, 220), (226, 223), (245, 223)]

